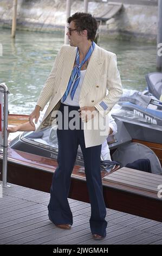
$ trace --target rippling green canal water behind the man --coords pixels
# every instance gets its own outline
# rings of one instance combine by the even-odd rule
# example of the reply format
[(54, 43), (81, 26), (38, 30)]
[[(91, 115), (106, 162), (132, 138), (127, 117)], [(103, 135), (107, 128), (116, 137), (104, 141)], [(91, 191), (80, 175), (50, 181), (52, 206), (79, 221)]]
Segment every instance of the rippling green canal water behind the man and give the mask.
[[(41, 88), (63, 44), (63, 33), (17, 31), (16, 39), (9, 29), (0, 30), (0, 83), (9, 88), (10, 113), (30, 114)], [(117, 54), (122, 86), (144, 90), (145, 74), (155, 70), (156, 46), (151, 44), (102, 39), (100, 46)]]

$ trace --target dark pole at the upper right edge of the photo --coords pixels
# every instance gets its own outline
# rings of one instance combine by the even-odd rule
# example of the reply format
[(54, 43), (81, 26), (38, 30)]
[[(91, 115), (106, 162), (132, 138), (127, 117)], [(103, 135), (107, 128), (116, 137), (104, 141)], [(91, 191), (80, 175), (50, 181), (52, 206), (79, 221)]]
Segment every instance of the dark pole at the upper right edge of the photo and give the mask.
[(157, 69), (162, 69), (162, 0), (158, 1)]

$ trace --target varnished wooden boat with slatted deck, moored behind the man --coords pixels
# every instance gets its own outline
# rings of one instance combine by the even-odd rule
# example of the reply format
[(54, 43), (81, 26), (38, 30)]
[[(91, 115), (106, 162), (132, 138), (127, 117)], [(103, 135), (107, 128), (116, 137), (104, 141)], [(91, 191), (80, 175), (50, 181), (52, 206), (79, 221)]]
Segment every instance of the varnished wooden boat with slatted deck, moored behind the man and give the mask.
[[(16, 116), (14, 118), (13, 115), (12, 117), (9, 115), (9, 124), (12, 123), (11, 118), (16, 124), (18, 120), (21, 122), (28, 120), (28, 116), (18, 115), (18, 120), (16, 120)], [(120, 120), (119, 123), (121, 124)], [(22, 138), (24, 139), (24, 143), (28, 144), (30, 150), (33, 144), (30, 144), (28, 141), (28, 133), (20, 135), (19, 139), (21, 140)], [(18, 139), (15, 138), (10, 145), (17, 143), (17, 141)], [(121, 146), (122, 143), (125, 144), (131, 141), (147, 145), (147, 147), (157, 154), (162, 164), (161, 143), (142, 141), (141, 139), (137, 141), (137, 138), (130, 139), (130, 137), (128, 137), (126, 139), (124, 137), (124, 139), (118, 139), (117, 142), (114, 141), (110, 145), (112, 153), (119, 145)], [(32, 154), (30, 151), (20, 150), (21, 148), (14, 149), (10, 145), (8, 148), (8, 182), (49, 192), (52, 176), (57, 167), (57, 150), (55, 149), (53, 151), (53, 155), (50, 155), (51, 157), (46, 157), (37, 153), (36, 148), (39, 148), (38, 144), (34, 145), (35, 151), (32, 152)], [(44, 152), (50, 151), (48, 145), (44, 145), (43, 147)], [(71, 177), (69, 198), (89, 202), (86, 177), (84, 173), (79, 172), (82, 166), (81, 162), (81, 155), (78, 155)], [(2, 155), (0, 155), (0, 164), (2, 170)], [(101, 175), (103, 196), (107, 208), (162, 222), (161, 175), (141, 172), (126, 167), (122, 167), (111, 174), (107, 174), (106, 171), (103, 171)], [(2, 173), (0, 179), (2, 180)], [(161, 185), (160, 188), (159, 185)]]

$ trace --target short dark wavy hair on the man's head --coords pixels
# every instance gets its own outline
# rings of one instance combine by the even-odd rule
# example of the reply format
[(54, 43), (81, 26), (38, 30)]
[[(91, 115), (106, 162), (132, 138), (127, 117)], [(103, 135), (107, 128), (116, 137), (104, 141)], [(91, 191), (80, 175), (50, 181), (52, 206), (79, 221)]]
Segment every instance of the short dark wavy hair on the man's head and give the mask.
[(98, 22), (96, 19), (88, 13), (75, 13), (68, 17), (67, 22), (70, 23), (74, 21), (77, 33), (80, 34), (81, 31), (87, 30), (87, 39), (93, 41), (98, 29)]

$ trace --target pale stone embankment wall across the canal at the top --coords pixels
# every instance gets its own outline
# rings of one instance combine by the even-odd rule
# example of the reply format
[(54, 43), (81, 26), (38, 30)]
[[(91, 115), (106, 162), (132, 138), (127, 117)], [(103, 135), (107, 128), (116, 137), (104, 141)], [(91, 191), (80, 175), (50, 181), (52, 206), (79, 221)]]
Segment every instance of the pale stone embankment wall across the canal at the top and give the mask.
[[(100, 26), (100, 35), (107, 38), (156, 42), (157, 1), (152, 5), (121, 2), (126, 3), (118, 14)], [(0, 26), (3, 28), (11, 27), (12, 3), (11, 0), (0, 0)], [(88, 4), (88, 11), (95, 16), (99, 16), (106, 8), (106, 2), (89, 1)], [(66, 22), (65, 11), (66, 0), (18, 0), (17, 29), (40, 32), (63, 31)], [(83, 11), (83, 1), (73, 1), (72, 14), (76, 11)]]

